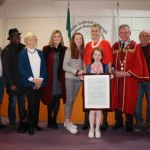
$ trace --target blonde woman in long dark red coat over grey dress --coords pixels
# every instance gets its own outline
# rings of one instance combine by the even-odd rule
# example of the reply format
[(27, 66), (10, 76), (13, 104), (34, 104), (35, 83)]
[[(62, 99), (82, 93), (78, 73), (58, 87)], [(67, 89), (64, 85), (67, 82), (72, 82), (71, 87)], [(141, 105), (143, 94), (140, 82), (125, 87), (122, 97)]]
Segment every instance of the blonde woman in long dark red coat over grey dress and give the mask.
[(64, 54), (67, 47), (59, 30), (51, 34), (49, 45), (43, 47), (48, 70), (48, 83), (42, 93), (42, 102), (47, 105), (48, 127), (58, 128), (57, 114), (60, 105), (60, 98), (65, 102), (65, 73), (62, 69)]

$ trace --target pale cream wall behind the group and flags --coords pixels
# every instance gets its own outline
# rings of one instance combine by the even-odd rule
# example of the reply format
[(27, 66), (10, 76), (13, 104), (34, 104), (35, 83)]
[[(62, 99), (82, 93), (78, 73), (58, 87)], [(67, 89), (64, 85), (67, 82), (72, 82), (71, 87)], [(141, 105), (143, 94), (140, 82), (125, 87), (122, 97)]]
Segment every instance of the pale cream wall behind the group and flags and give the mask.
[[(120, 0), (120, 24), (127, 23), (132, 30), (132, 39), (138, 41), (138, 34), (144, 28), (150, 29), (149, 0)], [(82, 21), (100, 23), (107, 34), (105, 38), (112, 43), (117, 40), (117, 1), (114, 0), (71, 0), (70, 13), (72, 27), (81, 27), (85, 41), (90, 40), (90, 28), (83, 28)], [(22, 37), (28, 31), (37, 33), (38, 48), (49, 41), (52, 30), (60, 29), (65, 44), (68, 45), (66, 33), (67, 0), (7, 0), (5, 6), (0, 6), (0, 44), (7, 44), (8, 30), (17, 27)], [(6, 18), (6, 20), (5, 20)], [(6, 24), (5, 24), (6, 21)], [(6, 27), (6, 29), (5, 29)], [(5, 31), (4, 31), (5, 30)], [(74, 30), (73, 30), (74, 31)], [(23, 41), (23, 38), (22, 38)]]

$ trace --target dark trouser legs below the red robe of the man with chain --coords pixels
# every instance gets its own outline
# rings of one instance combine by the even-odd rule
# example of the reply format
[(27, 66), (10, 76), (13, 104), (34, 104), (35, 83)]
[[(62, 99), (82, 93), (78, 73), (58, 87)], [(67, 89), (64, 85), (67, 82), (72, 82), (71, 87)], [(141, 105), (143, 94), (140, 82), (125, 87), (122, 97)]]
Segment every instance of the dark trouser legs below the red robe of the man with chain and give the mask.
[[(133, 115), (125, 114), (126, 115), (126, 126), (132, 128), (133, 127)], [(123, 124), (122, 112), (118, 109), (115, 110), (115, 119), (116, 123)]]

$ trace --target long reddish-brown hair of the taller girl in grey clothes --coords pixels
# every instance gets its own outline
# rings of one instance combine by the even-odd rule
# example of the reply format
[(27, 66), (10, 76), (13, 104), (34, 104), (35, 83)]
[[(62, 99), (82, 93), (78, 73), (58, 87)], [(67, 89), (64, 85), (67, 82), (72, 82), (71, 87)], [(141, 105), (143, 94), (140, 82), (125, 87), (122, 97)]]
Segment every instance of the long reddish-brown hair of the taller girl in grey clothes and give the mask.
[[(75, 36), (76, 35), (81, 35), (82, 37), (82, 44), (81, 44), (81, 47), (80, 47), (80, 50), (77, 50), (77, 46), (74, 42), (74, 39), (75, 39)], [(84, 38), (83, 38), (83, 35), (79, 32), (75, 32), (73, 35), (72, 35), (72, 38), (71, 38), (71, 44), (70, 44), (70, 48), (71, 48), (71, 58), (72, 59), (78, 59), (79, 56), (81, 56), (81, 59), (83, 58), (83, 52), (84, 52)]]

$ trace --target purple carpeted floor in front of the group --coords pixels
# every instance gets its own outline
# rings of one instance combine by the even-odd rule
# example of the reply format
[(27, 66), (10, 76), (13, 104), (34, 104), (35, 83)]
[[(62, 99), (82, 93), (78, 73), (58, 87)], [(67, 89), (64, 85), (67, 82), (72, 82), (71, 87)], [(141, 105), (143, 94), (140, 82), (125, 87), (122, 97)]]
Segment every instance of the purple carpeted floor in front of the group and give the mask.
[(108, 128), (101, 139), (89, 139), (88, 130), (70, 134), (62, 124), (59, 129), (49, 129), (45, 122), (40, 126), (43, 131), (29, 136), (19, 134), (12, 129), (0, 130), (0, 150), (149, 150), (150, 133), (145, 129), (141, 132), (127, 133), (125, 127), (114, 131)]

